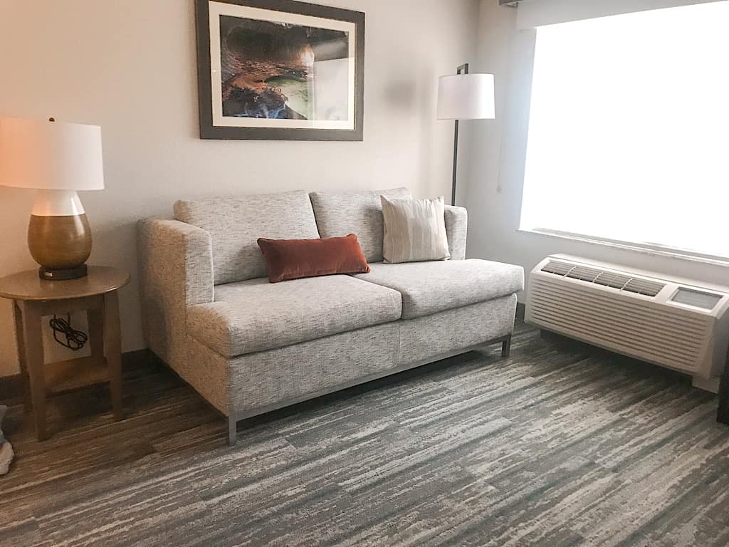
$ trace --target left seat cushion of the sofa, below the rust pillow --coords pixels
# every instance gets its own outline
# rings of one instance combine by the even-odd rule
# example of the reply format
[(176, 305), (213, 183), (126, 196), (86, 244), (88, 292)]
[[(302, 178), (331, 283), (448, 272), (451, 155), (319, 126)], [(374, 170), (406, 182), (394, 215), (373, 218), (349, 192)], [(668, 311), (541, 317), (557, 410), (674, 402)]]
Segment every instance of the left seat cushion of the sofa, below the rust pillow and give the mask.
[(401, 311), (399, 292), (351, 276), (249, 279), (218, 285), (213, 303), (190, 306), (187, 331), (235, 357), (396, 321)]

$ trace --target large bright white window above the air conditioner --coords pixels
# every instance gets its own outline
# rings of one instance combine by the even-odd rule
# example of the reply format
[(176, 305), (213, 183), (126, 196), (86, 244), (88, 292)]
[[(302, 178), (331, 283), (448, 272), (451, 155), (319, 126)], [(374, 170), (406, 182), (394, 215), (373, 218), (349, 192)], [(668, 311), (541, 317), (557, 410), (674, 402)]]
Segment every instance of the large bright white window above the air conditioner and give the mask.
[(521, 228), (729, 257), (729, 1), (537, 28)]

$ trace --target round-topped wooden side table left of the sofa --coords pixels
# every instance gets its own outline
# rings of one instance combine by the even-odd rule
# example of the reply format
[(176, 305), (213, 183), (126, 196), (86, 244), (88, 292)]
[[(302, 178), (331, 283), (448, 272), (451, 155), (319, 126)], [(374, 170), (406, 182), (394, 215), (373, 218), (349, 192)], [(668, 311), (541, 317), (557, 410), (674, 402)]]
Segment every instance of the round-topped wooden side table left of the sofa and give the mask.
[[(44, 281), (38, 271), (0, 279), (0, 297), (13, 301), (15, 335), (26, 412), (33, 408), (36, 436), (48, 437), (46, 395), (109, 381), (114, 419), (122, 414), (122, 350), (117, 290), (129, 274), (89, 266), (88, 276), (69, 281)], [(41, 319), (44, 315), (86, 310), (90, 357), (44, 364)]]

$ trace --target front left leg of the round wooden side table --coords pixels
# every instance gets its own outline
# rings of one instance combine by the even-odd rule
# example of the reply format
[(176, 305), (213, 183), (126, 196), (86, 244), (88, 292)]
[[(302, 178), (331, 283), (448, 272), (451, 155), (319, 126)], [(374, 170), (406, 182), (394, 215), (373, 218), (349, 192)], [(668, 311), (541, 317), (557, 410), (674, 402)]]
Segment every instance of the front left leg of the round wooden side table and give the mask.
[(41, 312), (34, 302), (23, 306), (23, 338), (25, 340), (26, 366), (31, 381), (33, 415), (36, 422), (36, 438), (48, 438), (45, 422), (45, 379), (43, 376), (43, 338), (41, 335)]

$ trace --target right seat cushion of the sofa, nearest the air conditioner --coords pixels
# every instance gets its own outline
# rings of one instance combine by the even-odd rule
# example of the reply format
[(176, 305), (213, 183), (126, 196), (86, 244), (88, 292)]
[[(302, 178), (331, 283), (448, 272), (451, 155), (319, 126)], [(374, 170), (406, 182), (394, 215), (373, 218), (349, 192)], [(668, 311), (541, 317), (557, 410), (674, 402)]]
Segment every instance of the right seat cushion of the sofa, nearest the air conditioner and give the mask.
[(402, 319), (485, 302), (524, 288), (521, 266), (488, 260), (378, 263), (370, 268), (370, 274), (355, 277), (402, 294)]

